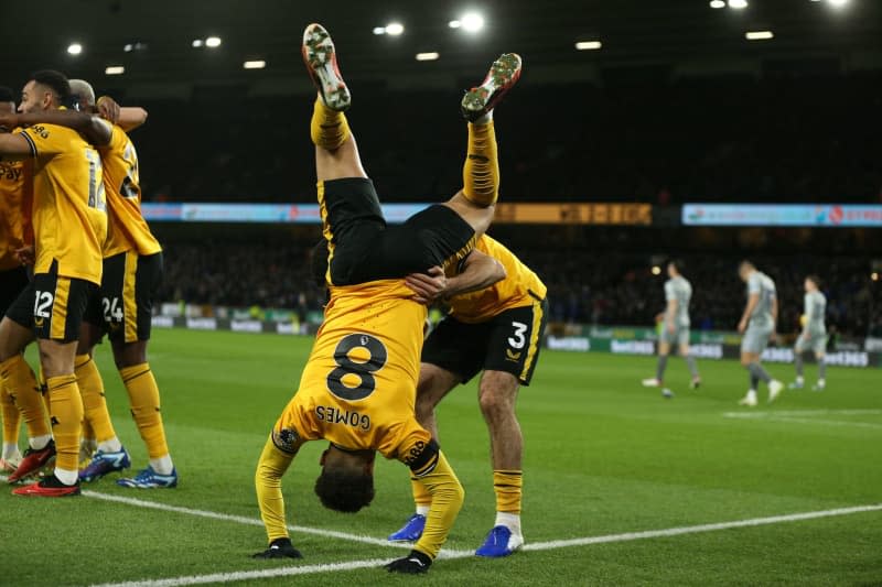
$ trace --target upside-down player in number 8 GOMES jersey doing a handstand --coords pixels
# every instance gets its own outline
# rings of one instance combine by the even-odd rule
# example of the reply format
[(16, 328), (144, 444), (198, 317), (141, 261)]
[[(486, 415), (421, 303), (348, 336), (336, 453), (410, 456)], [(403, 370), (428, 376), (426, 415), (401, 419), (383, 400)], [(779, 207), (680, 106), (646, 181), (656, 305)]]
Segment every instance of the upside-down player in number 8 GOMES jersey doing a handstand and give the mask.
[(520, 74), (506, 54), (485, 81), (466, 93), (469, 126), (464, 188), (404, 225), (387, 227), (362, 167), (343, 110), (349, 93), (334, 45), (318, 24), (306, 28), (303, 56), (319, 87), (311, 126), (319, 206), (327, 254), (330, 301), (297, 394), (272, 428), (256, 472), (269, 547), (260, 557), (299, 557), (288, 536), (281, 477), (306, 441), (326, 439), (315, 492), (337, 511), (355, 512), (374, 497), (375, 452), (408, 465), (432, 496), (426, 531), (390, 572), (423, 573), (438, 555), (463, 490), (438, 444), (415, 415), (426, 306), (405, 276), (460, 262), (493, 218), (498, 164), (490, 110)]

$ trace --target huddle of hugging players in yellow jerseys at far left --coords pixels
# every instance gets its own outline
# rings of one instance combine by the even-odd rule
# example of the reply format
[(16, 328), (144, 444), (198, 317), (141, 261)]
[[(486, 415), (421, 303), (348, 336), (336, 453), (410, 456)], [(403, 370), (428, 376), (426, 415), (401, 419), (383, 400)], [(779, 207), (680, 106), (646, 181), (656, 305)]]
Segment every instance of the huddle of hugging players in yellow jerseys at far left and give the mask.
[[(178, 483), (147, 361), (162, 249), (141, 216), (127, 134), (146, 118), (54, 70), (31, 76), (18, 109), (11, 91), (0, 96), (0, 466), (10, 483), (33, 480), (17, 496), (76, 496), (131, 466), (93, 360), (105, 334), (150, 457), (117, 483)], [(24, 359), (34, 340), (39, 381)]]

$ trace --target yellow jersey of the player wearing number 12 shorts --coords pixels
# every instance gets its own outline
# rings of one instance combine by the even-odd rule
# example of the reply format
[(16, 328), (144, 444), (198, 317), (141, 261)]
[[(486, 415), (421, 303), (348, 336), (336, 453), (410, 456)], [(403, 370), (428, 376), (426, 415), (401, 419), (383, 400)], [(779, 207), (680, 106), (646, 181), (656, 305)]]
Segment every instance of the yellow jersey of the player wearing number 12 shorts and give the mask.
[(46, 273), (57, 261), (58, 275), (100, 284), (107, 211), (98, 152), (76, 131), (55, 124), (17, 132), (34, 159), (34, 272)]

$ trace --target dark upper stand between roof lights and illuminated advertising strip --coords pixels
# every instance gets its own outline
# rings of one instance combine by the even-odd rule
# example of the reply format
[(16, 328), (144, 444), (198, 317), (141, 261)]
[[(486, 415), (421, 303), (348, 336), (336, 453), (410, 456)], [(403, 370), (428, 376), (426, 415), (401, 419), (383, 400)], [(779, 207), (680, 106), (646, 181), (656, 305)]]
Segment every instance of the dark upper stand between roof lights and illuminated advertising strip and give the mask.
[[(880, 202), (880, 81), (878, 74), (854, 74), (649, 86), (606, 80), (602, 88), (525, 84), (497, 122), (504, 196), (662, 205)], [(351, 121), (385, 200), (433, 202), (459, 188), (465, 134), (450, 106), (455, 94), (353, 85), (358, 101)], [(579, 107), (549, 123), (549, 93)], [(310, 97), (215, 88), (189, 101), (142, 106), (151, 112), (136, 134), (147, 200), (314, 200), (304, 122)], [(200, 132), (179, 132), (180, 120)]]

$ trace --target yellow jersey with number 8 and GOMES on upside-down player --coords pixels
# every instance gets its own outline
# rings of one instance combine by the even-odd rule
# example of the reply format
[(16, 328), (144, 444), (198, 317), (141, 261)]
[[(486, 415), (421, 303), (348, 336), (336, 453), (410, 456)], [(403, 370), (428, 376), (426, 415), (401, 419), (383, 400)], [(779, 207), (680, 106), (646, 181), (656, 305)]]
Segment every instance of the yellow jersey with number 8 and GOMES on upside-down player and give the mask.
[(300, 388), (276, 430), (406, 464), (419, 456), (431, 439), (415, 416), (427, 311), (412, 296), (402, 280), (332, 286)]

